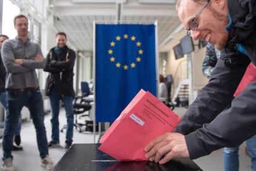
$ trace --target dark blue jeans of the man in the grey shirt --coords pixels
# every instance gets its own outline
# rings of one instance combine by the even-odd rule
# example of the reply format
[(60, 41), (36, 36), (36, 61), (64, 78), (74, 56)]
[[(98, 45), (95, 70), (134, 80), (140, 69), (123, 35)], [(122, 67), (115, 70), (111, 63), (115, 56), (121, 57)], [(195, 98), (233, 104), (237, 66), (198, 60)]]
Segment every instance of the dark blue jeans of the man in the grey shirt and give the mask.
[(12, 137), (19, 122), (20, 111), (23, 106), (27, 106), (30, 115), (33, 119), (33, 124), (36, 129), (36, 141), (41, 159), (48, 154), (47, 137), (45, 130), (45, 113), (43, 109), (43, 98), (40, 90), (31, 90), (28, 92), (19, 92), (7, 90), (7, 108), (9, 113), (6, 116), (6, 125), (4, 128), (4, 139), (2, 141), (2, 148), (4, 157), (7, 159), (12, 157)]

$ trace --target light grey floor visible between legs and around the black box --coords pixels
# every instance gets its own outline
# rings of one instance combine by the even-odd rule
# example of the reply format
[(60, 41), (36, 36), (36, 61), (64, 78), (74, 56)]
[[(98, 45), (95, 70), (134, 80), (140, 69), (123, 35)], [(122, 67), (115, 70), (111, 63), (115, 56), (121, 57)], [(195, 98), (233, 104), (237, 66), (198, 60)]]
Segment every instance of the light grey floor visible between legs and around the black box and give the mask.
[[(174, 112), (182, 116), (185, 113), (185, 108), (176, 108)], [(61, 111), (59, 116), (60, 125), (64, 125), (66, 117), (64, 111)], [(48, 140), (51, 136), (51, 122), (50, 116), (45, 117), (45, 125)], [(14, 165), (20, 171), (43, 171), (46, 170), (40, 167), (40, 157), (36, 146), (35, 129), (32, 121), (24, 122), (22, 124), (22, 146), (23, 151), (14, 151)], [(97, 136), (98, 137), (98, 136)], [(61, 146), (64, 146), (65, 133), (60, 133)], [(74, 143), (93, 143), (93, 134), (79, 133), (77, 130), (74, 131)], [(64, 149), (59, 146), (58, 148), (49, 149), (49, 155), (58, 162), (62, 155), (65, 153)], [(240, 154), (240, 170), (252, 170), (250, 167), (250, 158), (245, 155), (245, 145), (241, 145)], [(0, 149), (0, 156), (2, 156), (2, 148)], [(209, 156), (200, 157), (195, 162), (203, 169), (209, 171), (223, 170), (222, 163), (222, 150), (215, 151)], [(2, 162), (0, 162), (2, 164)], [(71, 171), (71, 170), (70, 170)]]

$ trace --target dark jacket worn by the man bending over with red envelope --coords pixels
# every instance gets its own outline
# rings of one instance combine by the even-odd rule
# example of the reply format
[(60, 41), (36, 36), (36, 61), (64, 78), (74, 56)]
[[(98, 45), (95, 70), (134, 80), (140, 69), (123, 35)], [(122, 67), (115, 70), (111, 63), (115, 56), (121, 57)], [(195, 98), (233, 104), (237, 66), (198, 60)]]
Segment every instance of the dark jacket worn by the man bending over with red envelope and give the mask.
[[(256, 65), (255, 0), (229, 0), (228, 7), (233, 20), (228, 45), (221, 50), (210, 81), (176, 128), (186, 135), (191, 159), (240, 145), (256, 133), (256, 82), (232, 101), (250, 61)], [(248, 56), (237, 50), (237, 44), (242, 44)], [(231, 108), (221, 113), (229, 103)]]

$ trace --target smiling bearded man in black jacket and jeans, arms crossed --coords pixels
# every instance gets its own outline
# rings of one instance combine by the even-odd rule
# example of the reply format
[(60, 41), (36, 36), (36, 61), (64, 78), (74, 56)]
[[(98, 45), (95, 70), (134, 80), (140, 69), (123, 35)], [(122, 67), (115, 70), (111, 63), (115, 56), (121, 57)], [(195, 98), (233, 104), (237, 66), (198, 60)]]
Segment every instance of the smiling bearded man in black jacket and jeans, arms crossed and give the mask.
[(49, 148), (59, 144), (59, 101), (62, 100), (66, 110), (67, 132), (65, 148), (69, 149), (72, 145), (73, 128), (74, 128), (74, 111), (73, 111), (73, 77), (75, 65), (75, 52), (66, 45), (67, 36), (63, 32), (56, 34), (56, 44), (46, 57), (45, 71), (49, 72), (46, 80), (45, 94), (49, 96), (51, 103), (51, 141), (48, 143)]

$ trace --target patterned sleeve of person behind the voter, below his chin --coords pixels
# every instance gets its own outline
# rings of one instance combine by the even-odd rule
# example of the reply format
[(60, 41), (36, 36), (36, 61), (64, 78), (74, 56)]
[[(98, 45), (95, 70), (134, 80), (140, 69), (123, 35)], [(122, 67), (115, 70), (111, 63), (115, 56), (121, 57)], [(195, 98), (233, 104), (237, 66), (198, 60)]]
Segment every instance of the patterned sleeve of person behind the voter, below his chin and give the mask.
[(207, 44), (205, 60), (203, 60), (202, 71), (206, 78), (210, 78), (211, 73), (217, 63), (218, 58), (215, 54), (215, 47), (212, 44)]

